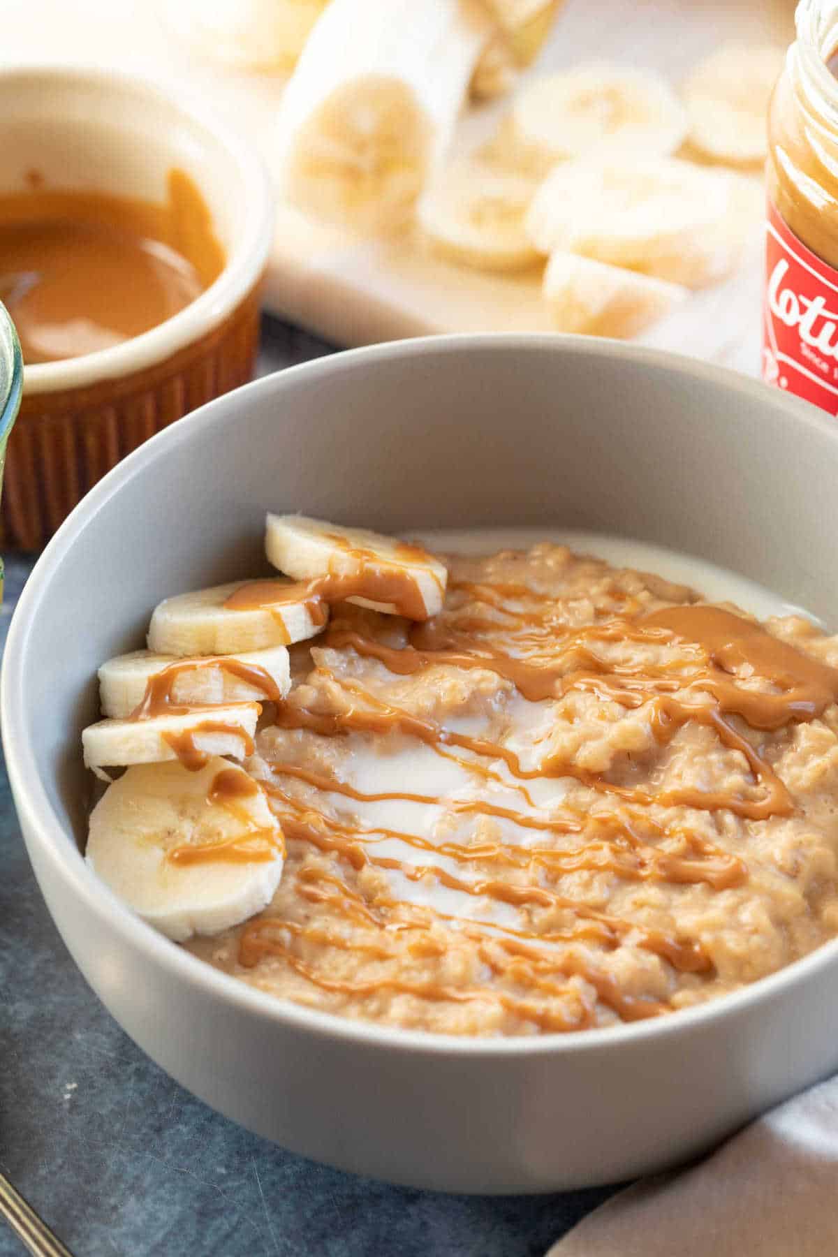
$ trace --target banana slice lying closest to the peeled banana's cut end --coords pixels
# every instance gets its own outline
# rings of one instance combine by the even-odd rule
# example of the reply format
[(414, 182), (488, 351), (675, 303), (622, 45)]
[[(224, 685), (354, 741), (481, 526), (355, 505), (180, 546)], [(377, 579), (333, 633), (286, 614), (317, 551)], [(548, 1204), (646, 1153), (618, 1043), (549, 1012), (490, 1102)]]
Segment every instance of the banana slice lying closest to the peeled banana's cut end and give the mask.
[(443, 168), (422, 195), (416, 216), (437, 253), (477, 270), (523, 270), (539, 260), (524, 231), (533, 180), (485, 162)]

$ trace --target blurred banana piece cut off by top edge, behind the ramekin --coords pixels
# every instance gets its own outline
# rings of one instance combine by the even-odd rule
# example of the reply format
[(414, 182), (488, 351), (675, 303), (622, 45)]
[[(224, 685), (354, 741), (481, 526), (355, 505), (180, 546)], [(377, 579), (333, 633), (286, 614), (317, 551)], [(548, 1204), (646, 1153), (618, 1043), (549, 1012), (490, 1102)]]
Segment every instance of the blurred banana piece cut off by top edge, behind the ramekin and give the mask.
[(328, 0), (160, 0), (163, 19), (205, 57), (248, 69), (290, 67)]

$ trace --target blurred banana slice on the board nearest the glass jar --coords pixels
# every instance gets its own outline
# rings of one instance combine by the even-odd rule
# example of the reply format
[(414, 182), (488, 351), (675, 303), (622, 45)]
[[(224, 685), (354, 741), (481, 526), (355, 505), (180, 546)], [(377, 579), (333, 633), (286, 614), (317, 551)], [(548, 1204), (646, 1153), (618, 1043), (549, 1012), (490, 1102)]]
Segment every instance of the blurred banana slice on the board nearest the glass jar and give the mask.
[(768, 106), (784, 50), (726, 44), (683, 84), (688, 141), (710, 161), (753, 165), (768, 153)]

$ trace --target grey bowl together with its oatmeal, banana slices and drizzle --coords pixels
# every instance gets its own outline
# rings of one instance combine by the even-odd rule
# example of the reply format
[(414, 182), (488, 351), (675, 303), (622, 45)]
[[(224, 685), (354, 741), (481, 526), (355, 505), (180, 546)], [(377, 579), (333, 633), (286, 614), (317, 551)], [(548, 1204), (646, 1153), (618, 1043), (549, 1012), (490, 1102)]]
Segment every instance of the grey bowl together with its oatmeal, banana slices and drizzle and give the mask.
[[(227, 1117), (431, 1190), (660, 1170), (825, 1077), (837, 476), (814, 407), (573, 338), (334, 354), (144, 444), (0, 686), (95, 996)], [(290, 517), (298, 566), (265, 510), (335, 525)], [(647, 622), (694, 607), (736, 635)]]

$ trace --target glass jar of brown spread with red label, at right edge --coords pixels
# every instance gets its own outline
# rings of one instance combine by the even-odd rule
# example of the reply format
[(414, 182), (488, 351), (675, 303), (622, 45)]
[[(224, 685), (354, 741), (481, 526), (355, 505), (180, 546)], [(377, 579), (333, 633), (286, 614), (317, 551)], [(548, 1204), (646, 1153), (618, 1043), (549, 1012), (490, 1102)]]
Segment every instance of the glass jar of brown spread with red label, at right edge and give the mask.
[(769, 109), (763, 378), (838, 415), (837, 0), (802, 0)]

